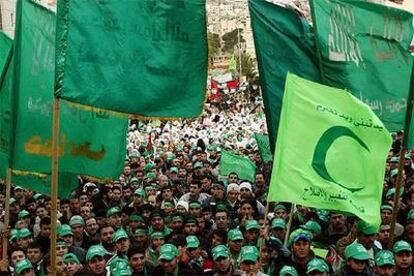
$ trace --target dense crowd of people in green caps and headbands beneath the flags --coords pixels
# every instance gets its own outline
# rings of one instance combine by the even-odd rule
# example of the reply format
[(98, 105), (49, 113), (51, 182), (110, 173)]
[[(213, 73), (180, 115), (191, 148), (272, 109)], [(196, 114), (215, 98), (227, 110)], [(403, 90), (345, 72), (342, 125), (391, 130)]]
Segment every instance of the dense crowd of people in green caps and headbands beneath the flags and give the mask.
[[(262, 161), (252, 137), (266, 132), (261, 100), (236, 91), (225, 105), (207, 102), (194, 121), (132, 121), (119, 180), (79, 178), (79, 188), (59, 199), (56, 252), (49, 252), (50, 197), (14, 186), (0, 275), (412, 275), (414, 153), (403, 157), (390, 241), (401, 133), (377, 229), (349, 214), (266, 202), (272, 162)], [(236, 169), (220, 175), (222, 150), (248, 156), (255, 181)]]

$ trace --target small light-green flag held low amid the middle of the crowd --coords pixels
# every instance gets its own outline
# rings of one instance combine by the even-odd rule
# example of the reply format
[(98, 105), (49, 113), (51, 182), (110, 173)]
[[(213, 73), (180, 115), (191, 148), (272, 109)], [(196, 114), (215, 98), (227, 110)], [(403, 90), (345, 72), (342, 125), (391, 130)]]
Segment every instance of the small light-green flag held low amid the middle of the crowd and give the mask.
[(220, 175), (228, 176), (229, 173), (232, 172), (237, 173), (239, 179), (252, 182), (256, 180), (256, 165), (252, 160), (248, 157), (222, 150), (220, 158)]

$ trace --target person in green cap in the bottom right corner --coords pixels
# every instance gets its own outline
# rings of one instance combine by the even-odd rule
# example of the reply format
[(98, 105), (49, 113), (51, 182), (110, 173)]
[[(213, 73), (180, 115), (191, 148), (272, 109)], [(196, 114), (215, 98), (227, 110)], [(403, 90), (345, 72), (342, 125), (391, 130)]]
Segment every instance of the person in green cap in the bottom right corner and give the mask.
[(392, 247), (397, 275), (412, 275), (413, 250), (406, 241), (397, 241)]

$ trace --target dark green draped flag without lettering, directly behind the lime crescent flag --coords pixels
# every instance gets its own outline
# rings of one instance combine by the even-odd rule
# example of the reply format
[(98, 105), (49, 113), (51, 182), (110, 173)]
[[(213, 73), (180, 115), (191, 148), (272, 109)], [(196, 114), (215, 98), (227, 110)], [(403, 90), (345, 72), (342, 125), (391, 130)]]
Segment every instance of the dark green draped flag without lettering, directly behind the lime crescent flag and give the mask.
[(319, 81), (311, 26), (292, 10), (263, 0), (249, 0), (263, 103), (274, 152), (286, 74)]

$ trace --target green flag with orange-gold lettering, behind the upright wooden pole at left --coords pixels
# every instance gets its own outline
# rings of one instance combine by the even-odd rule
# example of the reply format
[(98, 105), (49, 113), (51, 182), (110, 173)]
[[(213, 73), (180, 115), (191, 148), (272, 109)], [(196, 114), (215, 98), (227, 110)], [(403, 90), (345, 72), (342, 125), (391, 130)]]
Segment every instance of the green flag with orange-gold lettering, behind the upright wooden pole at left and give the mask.
[[(55, 23), (50, 10), (30, 0), (18, 2), (10, 165), (20, 176), (41, 174), (44, 183), (51, 172)], [(75, 174), (117, 178), (126, 152), (128, 121), (107, 111), (72, 105), (60, 102), (60, 181)], [(66, 183), (78, 185), (76, 177)], [(64, 189), (69, 187), (59, 185), (60, 195)]]

